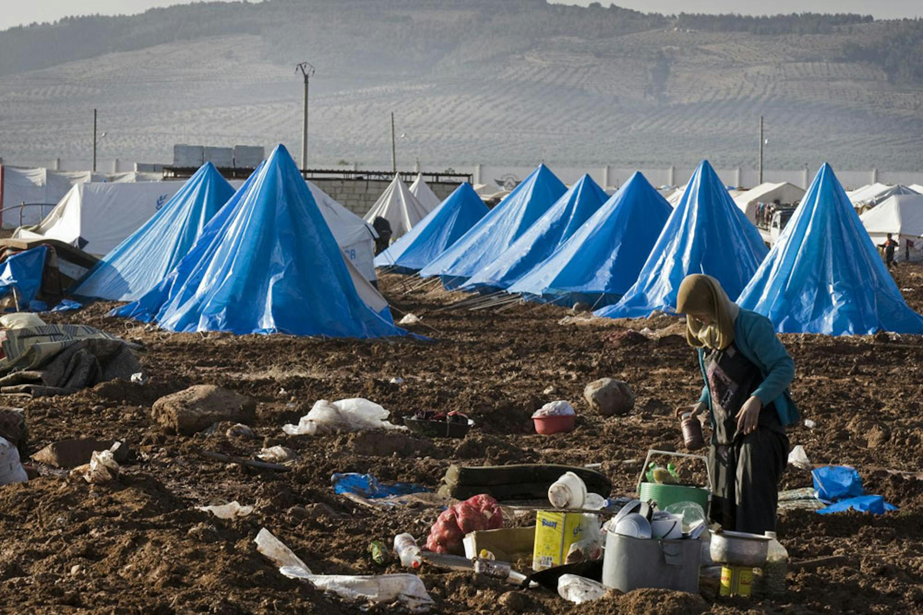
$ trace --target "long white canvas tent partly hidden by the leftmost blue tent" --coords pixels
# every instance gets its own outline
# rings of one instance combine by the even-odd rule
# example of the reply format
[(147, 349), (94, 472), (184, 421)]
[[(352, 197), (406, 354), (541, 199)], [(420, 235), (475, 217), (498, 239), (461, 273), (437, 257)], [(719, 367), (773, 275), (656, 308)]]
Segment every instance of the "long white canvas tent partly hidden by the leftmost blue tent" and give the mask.
[(34, 229), (15, 238), (46, 237), (102, 256), (138, 230), (183, 182), (77, 183)]

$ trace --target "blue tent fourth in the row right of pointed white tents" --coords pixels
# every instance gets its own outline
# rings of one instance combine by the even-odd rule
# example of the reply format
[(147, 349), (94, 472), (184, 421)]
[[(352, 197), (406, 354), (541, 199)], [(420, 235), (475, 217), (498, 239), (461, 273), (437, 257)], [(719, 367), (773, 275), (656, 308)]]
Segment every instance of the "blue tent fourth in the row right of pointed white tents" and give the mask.
[(554, 254), (510, 286), (509, 292), (567, 305), (587, 302), (603, 307), (617, 302), (638, 279), (672, 211), (666, 199), (636, 172)]

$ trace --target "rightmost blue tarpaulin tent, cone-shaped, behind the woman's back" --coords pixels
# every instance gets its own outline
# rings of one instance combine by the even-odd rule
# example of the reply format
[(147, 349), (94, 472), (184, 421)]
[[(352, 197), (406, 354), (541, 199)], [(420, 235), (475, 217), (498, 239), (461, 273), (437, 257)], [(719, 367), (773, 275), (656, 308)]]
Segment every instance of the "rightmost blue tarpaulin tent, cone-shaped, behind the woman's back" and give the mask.
[(737, 303), (783, 333), (923, 333), (829, 164)]

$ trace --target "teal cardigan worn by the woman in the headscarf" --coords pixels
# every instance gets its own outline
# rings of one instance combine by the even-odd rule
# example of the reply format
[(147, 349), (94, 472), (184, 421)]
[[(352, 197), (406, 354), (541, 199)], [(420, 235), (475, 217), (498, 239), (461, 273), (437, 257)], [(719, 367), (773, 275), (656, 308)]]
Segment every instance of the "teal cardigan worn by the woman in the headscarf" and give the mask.
[[(773, 329), (773, 323), (765, 316), (740, 308), (734, 323), (734, 343), (740, 354), (760, 369), (762, 384), (753, 391), (763, 407), (772, 403), (779, 413), (783, 425), (798, 420), (798, 408), (788, 392), (788, 385), (795, 379), (795, 361), (785, 350)], [(705, 386), (701, 389), (699, 401), (708, 405), (714, 424), (712, 394), (708, 390), (708, 376), (705, 374), (705, 349), (699, 349), (699, 367)]]

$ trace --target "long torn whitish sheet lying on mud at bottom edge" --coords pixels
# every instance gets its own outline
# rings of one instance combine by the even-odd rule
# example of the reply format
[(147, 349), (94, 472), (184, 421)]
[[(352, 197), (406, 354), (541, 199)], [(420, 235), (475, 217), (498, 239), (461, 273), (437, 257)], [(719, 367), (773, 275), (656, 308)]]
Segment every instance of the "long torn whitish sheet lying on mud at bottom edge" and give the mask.
[(426, 585), (415, 574), (379, 574), (350, 576), (346, 574), (312, 574), (291, 549), (263, 527), (259, 530), (257, 550), (279, 566), (279, 572), (290, 579), (305, 579), (321, 591), (329, 591), (347, 600), (366, 599), (371, 602), (401, 602), (413, 612), (425, 612), (433, 605)]

